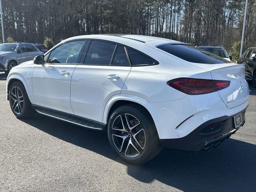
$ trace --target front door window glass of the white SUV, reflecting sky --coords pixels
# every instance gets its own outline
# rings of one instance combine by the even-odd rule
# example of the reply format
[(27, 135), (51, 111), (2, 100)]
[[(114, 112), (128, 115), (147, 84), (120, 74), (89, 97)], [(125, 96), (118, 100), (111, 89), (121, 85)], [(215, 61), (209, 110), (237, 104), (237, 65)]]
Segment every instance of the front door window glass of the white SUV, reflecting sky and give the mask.
[(62, 44), (52, 50), (47, 63), (74, 64), (84, 44), (84, 40), (72, 41)]

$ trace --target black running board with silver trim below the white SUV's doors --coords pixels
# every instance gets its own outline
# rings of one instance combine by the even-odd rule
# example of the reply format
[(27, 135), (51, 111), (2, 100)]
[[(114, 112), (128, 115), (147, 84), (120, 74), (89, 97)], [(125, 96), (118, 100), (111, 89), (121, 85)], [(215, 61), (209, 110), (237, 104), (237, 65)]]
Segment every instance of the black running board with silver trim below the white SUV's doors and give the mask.
[(62, 120), (68, 123), (72, 123), (84, 128), (95, 129), (95, 130), (105, 130), (106, 128), (106, 124), (103, 124), (100, 122), (96, 122), (96, 121), (82, 118), (76, 115), (68, 114), (65, 112), (44, 108), (41, 106), (36, 106), (36, 105), (32, 105), (32, 106), (36, 110), (36, 112), (38, 112), (39, 114), (52, 117), (58, 120)]

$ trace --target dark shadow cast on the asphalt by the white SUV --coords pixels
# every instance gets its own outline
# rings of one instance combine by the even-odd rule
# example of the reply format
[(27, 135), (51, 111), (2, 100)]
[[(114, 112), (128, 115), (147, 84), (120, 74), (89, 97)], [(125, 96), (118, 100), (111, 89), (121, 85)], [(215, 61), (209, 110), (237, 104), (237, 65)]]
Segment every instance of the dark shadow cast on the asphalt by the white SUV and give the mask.
[(141, 182), (158, 180), (182, 191), (256, 191), (254, 144), (230, 138), (211, 152), (163, 149), (144, 165), (130, 165), (110, 148), (106, 132), (88, 130), (39, 114), (23, 121), (56, 138), (125, 164), (127, 174)]

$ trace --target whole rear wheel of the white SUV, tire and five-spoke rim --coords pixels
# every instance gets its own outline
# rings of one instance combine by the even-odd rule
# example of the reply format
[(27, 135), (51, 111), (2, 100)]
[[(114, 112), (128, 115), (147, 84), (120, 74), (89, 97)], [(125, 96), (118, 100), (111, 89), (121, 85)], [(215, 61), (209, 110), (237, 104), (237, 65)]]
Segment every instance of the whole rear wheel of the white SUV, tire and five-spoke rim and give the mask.
[(134, 105), (120, 106), (111, 114), (108, 140), (116, 154), (130, 164), (142, 164), (162, 149), (152, 117)]

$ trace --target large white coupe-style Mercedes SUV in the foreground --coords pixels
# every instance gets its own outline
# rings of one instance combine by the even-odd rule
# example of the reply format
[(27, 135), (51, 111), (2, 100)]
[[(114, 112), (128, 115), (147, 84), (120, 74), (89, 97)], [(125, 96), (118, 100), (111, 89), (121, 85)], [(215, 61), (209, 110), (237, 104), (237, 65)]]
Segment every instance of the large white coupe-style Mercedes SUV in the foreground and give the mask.
[(106, 130), (111, 147), (130, 163), (146, 162), (162, 147), (218, 146), (244, 124), (249, 92), (244, 65), (138, 35), (68, 38), (12, 68), (6, 83), (18, 118), (36, 110)]

